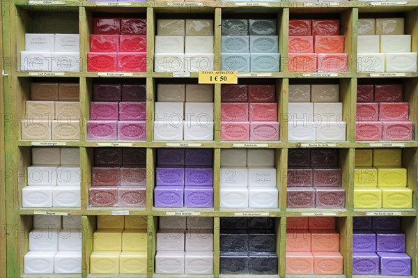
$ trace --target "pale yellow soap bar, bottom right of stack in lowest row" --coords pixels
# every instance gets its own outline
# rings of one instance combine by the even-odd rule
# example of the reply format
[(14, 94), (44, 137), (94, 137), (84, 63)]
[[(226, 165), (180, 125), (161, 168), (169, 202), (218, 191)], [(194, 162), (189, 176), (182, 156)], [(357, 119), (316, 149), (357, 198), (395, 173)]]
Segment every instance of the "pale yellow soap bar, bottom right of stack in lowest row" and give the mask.
[(119, 263), (121, 274), (146, 274), (146, 252), (123, 251)]

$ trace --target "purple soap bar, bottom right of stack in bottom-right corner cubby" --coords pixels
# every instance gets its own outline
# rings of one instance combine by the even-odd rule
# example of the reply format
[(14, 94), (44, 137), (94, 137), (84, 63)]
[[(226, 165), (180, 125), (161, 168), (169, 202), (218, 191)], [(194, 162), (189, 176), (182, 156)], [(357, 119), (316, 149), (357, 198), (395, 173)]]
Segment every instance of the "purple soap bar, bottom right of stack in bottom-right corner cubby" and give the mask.
[(380, 275), (411, 275), (411, 258), (405, 253), (378, 252), (380, 257)]

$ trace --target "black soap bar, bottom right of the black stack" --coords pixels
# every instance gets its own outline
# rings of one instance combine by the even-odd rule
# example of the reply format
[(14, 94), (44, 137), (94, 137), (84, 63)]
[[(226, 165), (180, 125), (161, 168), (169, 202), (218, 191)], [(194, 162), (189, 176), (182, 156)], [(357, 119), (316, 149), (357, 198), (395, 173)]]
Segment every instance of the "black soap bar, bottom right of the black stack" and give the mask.
[(277, 275), (277, 254), (274, 252), (249, 252), (248, 271), (249, 274)]

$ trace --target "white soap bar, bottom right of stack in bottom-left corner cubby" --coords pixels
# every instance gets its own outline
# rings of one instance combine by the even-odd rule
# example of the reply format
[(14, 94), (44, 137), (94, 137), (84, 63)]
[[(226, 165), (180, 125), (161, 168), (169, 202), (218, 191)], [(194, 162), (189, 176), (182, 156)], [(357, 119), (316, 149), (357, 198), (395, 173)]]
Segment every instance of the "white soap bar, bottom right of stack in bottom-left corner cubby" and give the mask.
[(54, 273), (77, 274), (82, 273), (81, 251), (59, 251), (55, 254)]

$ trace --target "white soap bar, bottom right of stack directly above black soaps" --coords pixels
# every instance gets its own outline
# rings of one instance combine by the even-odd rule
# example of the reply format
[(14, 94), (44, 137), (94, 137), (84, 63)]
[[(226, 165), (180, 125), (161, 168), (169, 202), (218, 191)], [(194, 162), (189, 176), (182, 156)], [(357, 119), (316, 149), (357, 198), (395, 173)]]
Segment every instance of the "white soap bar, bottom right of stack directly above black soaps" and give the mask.
[(279, 190), (274, 187), (249, 187), (249, 208), (277, 208)]

